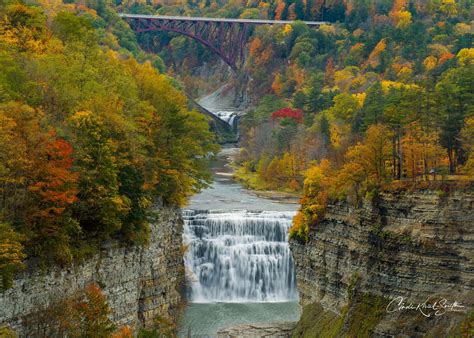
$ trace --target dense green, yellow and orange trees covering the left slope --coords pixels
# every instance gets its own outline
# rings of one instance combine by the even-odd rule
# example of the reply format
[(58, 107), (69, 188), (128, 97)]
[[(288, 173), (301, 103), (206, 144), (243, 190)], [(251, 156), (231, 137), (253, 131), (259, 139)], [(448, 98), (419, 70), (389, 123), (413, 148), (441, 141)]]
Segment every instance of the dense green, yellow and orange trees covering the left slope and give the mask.
[(4, 287), (23, 252), (65, 264), (110, 236), (145, 242), (154, 201), (210, 181), (206, 119), (129, 31), (113, 34), (110, 8), (78, 3), (0, 6)]

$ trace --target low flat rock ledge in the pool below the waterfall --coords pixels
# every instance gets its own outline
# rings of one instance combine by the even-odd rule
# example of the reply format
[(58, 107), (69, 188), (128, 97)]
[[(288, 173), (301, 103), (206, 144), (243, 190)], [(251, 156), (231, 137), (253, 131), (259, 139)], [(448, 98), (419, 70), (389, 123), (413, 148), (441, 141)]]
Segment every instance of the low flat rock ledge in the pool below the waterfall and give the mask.
[(270, 323), (270, 324), (242, 324), (236, 325), (227, 329), (222, 329), (217, 332), (218, 338), (286, 338), (291, 337), (296, 323)]

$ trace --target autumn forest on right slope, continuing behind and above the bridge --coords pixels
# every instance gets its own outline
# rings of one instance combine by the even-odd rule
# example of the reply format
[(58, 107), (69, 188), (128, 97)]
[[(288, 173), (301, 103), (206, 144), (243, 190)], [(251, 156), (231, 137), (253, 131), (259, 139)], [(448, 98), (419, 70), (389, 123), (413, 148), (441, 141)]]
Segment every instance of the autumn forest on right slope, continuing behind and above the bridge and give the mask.
[[(304, 190), (292, 233), (305, 237), (331, 198), (359, 203), (392, 181), (472, 178), (471, 1), (129, 1), (121, 8), (330, 23), (255, 27), (248, 44), (244, 71), (256, 108), (242, 121), (238, 175), (256, 188)], [(175, 70), (210, 59), (184, 37), (147, 39), (169, 46), (161, 55)], [(200, 52), (189, 58), (191, 48)]]

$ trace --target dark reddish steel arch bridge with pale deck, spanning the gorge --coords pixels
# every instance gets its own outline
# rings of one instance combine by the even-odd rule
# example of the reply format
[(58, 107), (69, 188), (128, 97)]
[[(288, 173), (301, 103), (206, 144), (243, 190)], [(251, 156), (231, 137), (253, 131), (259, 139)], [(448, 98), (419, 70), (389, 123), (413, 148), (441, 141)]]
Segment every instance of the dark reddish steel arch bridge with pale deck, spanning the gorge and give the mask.
[[(244, 46), (250, 25), (285, 25), (294, 21), (226, 19), (163, 15), (119, 14), (137, 33), (169, 31), (188, 36), (216, 53), (234, 71), (244, 62)], [(303, 21), (310, 27), (328, 24)]]

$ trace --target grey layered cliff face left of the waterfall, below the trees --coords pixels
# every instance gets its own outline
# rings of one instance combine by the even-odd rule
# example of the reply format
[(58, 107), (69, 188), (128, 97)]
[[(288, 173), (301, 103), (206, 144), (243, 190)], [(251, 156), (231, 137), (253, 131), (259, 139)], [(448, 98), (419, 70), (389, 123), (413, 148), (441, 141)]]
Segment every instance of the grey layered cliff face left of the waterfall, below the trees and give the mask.
[(158, 316), (176, 318), (184, 279), (180, 210), (160, 209), (150, 227), (147, 246), (124, 248), (110, 241), (79, 265), (25, 271), (12, 289), (0, 294), (0, 327), (37, 336), (42, 309), (91, 283), (107, 296), (111, 319), (119, 327), (149, 327)]

